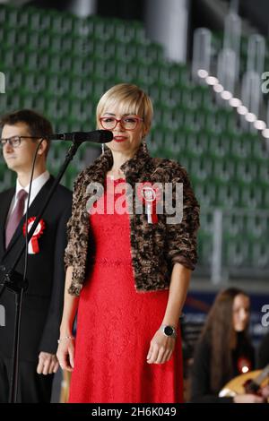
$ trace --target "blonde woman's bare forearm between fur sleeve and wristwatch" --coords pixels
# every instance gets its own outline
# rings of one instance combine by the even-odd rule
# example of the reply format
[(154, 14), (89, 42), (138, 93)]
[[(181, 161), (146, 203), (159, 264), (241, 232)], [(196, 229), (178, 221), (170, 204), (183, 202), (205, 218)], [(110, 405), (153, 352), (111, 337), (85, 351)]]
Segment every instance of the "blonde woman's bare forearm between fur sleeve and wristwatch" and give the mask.
[(187, 296), (191, 270), (180, 263), (175, 263), (171, 274), (169, 300), (162, 324), (178, 326), (179, 316)]

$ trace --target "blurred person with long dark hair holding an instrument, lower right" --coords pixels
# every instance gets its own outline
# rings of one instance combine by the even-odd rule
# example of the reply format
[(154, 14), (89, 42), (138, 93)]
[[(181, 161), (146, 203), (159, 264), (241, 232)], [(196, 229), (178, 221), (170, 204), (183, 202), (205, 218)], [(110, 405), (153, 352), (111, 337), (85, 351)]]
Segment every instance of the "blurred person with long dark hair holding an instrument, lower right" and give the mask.
[(192, 402), (265, 402), (266, 393), (219, 397), (227, 382), (255, 368), (255, 351), (247, 333), (249, 312), (249, 296), (238, 288), (227, 288), (216, 296), (195, 348)]

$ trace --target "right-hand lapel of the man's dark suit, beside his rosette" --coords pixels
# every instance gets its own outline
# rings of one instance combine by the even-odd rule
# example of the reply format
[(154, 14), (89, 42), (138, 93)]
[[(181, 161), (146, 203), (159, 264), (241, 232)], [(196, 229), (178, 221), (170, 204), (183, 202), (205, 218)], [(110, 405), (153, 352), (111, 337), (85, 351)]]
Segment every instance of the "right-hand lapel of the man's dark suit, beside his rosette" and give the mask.
[[(29, 212), (28, 212), (28, 219), (31, 218), (31, 217), (37, 217), (38, 216), (39, 211), (41, 209), (41, 206), (46, 201), (46, 198), (48, 196), (48, 191), (49, 191), (51, 185), (53, 184), (53, 181), (54, 181), (54, 177), (50, 176), (47, 183), (45, 185), (43, 185), (43, 187), (41, 188), (41, 190), (39, 191), (39, 193), (35, 197), (34, 201), (31, 203), (30, 208), (29, 208)], [(17, 243), (17, 241), (20, 238), (21, 238), (21, 241), (24, 239), (24, 236), (22, 235), (24, 223), (25, 223), (25, 215), (21, 219), (21, 222), (18, 225), (17, 229), (15, 230), (10, 244), (8, 245), (7, 249), (5, 250), (3, 260), (4, 260), (5, 256), (8, 253), (10, 253), (11, 249)]]

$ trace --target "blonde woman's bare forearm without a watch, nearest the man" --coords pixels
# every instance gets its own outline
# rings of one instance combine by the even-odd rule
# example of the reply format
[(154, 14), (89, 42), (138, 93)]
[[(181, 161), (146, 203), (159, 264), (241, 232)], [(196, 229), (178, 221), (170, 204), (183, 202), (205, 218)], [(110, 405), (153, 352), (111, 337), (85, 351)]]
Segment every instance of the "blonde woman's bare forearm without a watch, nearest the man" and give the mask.
[(60, 327), (60, 336), (70, 336), (72, 335), (74, 317), (77, 311), (78, 296), (71, 296), (68, 293), (68, 289), (72, 282), (73, 267), (69, 266), (66, 271), (65, 276), (65, 302), (64, 302), (64, 312)]

